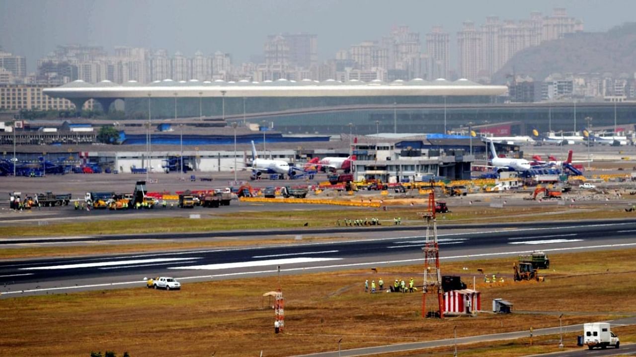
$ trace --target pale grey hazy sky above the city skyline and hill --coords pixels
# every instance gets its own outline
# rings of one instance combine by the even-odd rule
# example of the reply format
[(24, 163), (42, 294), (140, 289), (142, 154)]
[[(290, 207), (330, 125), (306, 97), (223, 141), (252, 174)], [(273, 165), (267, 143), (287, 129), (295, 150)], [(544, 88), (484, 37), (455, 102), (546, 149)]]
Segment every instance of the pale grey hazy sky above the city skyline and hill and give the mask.
[(39, 57), (69, 43), (109, 52), (116, 45), (166, 48), (188, 57), (221, 50), (240, 63), (262, 54), (267, 34), (310, 32), (318, 35), (324, 60), (350, 44), (380, 39), (394, 25), (410, 26), (422, 40), (432, 25), (443, 25), (454, 49), (465, 20), (518, 20), (555, 7), (581, 18), (587, 31), (633, 21), (636, 13), (634, 0), (0, 0), (0, 46), (26, 56), (29, 72)]

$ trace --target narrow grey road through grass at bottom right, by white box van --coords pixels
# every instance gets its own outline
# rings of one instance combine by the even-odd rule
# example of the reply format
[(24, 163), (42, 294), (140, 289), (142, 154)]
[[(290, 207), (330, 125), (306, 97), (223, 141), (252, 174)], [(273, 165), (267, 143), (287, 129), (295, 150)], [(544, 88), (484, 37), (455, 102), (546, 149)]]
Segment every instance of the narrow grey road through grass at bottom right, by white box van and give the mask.
[[(623, 318), (619, 320), (611, 320), (607, 322), (611, 323), (614, 326), (636, 325), (636, 317)], [(555, 335), (555, 334), (558, 334), (559, 331), (560, 331), (559, 327), (538, 328), (537, 330), (533, 331), (533, 335), (534, 336)], [(583, 332), (583, 324), (563, 326), (563, 331), (564, 332), (572, 332), (572, 331)], [(530, 337), (529, 331), (504, 332), (504, 333), (494, 333), (492, 335), (476, 335), (476, 336), (468, 336), (468, 337), (458, 337), (457, 344), (474, 344), (474, 343), (480, 343), (480, 342), (514, 340), (514, 339), (522, 339), (522, 338), (529, 338), (529, 337)], [(432, 340), (432, 341), (425, 341), (425, 342), (408, 342), (404, 344), (391, 344), (391, 345), (385, 345), (385, 346), (345, 349), (344, 351), (340, 351), (340, 352), (333, 351), (333, 352), (301, 354), (301, 355), (293, 356), (293, 357), (368, 356), (370, 354), (378, 354), (378, 353), (394, 353), (394, 352), (413, 351), (416, 349), (447, 347), (447, 346), (453, 346), (453, 344), (455, 344), (454, 339), (443, 339), (443, 340)], [(616, 354), (618, 351), (620, 350), (611, 351), (611, 352), (614, 352), (614, 354)], [(563, 356), (609, 356), (611, 355), (611, 353), (610, 354), (588, 354), (590, 353), (590, 351), (587, 351), (587, 350), (581, 351), (581, 352), (585, 354), (563, 354)], [(544, 356), (544, 355), (541, 355), (541, 356)], [(561, 355), (557, 355), (557, 354), (552, 354), (549, 356), (561, 357)]]

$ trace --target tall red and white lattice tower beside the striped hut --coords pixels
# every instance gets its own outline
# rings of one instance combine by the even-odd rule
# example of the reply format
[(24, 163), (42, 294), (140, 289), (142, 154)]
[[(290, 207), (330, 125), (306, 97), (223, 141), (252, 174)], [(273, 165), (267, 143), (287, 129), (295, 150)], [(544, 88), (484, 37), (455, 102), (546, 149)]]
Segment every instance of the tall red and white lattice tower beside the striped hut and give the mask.
[[(437, 222), (435, 220), (435, 189), (431, 180), (428, 212), (422, 213), (426, 220), (426, 240), (424, 242), (424, 288), (422, 289), (422, 317), (426, 317), (426, 297), (431, 293), (438, 295), (439, 318), (444, 318), (441, 288), (441, 272), (439, 271), (439, 245), (437, 239)], [(432, 316), (435, 316), (433, 314)]]

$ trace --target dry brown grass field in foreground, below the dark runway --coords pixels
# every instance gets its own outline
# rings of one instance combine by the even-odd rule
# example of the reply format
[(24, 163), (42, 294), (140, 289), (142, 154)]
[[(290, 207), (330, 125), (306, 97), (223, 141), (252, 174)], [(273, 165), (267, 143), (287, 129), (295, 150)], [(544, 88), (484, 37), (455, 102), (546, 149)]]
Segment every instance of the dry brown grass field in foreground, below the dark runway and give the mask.
[[(476, 269), (498, 273), (496, 285), (480, 282), (483, 309), (495, 297), (510, 300), (509, 315), (481, 313), (475, 318), (430, 320), (420, 317), (421, 293), (364, 293), (364, 280), (418, 278), (421, 267), (282, 276), (286, 299), (285, 333), (273, 333), (271, 302), (261, 295), (278, 286), (277, 278), (185, 283), (183, 290), (166, 292), (144, 286), (0, 300), (0, 350), (8, 356), (88, 356), (109, 349), (138, 356), (289, 356), (312, 351), (376, 346), (457, 335), (528, 330), (617, 318), (636, 309), (633, 255), (636, 250), (551, 255), (543, 283), (511, 281), (511, 259), (443, 262), (443, 274), (461, 274), (473, 281)], [(468, 270), (463, 268), (467, 267)], [(417, 281), (417, 280), (416, 280)], [(469, 284), (470, 286), (471, 284)], [(620, 297), (621, 304), (609, 304)], [(432, 301), (429, 302), (429, 306)], [(532, 313), (541, 311), (543, 313)], [(547, 314), (546, 314), (547, 313)], [(620, 331), (620, 330), (618, 330)], [(571, 332), (570, 332), (571, 333)], [(633, 328), (625, 328), (632, 339)], [(556, 337), (558, 338), (558, 337)], [(556, 351), (554, 336), (529, 341), (504, 341), (495, 347), (477, 345), (462, 356), (516, 356), (531, 351)], [(569, 335), (567, 347), (576, 347)], [(450, 349), (412, 356), (448, 355)], [(475, 352), (476, 351), (476, 352)], [(481, 351), (481, 354), (480, 352)], [(469, 354), (472, 353), (472, 354)], [(388, 355), (387, 355), (388, 356)]]

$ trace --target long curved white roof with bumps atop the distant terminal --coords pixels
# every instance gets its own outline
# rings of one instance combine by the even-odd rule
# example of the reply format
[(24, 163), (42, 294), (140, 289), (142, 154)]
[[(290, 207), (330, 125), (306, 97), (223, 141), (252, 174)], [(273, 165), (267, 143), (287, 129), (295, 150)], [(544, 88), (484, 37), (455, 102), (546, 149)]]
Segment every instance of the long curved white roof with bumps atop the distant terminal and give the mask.
[(506, 86), (477, 84), (467, 79), (448, 81), (436, 79), (432, 82), (415, 78), (410, 81), (385, 83), (374, 80), (370, 83), (351, 80), (347, 83), (328, 79), (326, 81), (277, 81), (226, 82), (217, 79), (210, 81), (173, 81), (164, 79), (153, 83), (141, 84), (130, 81), (116, 84), (110, 81), (86, 83), (78, 80), (57, 88), (46, 88), (44, 93), (55, 98), (167, 98), (174, 97), (384, 97), (384, 96), (466, 96), (466, 95), (502, 95)]

